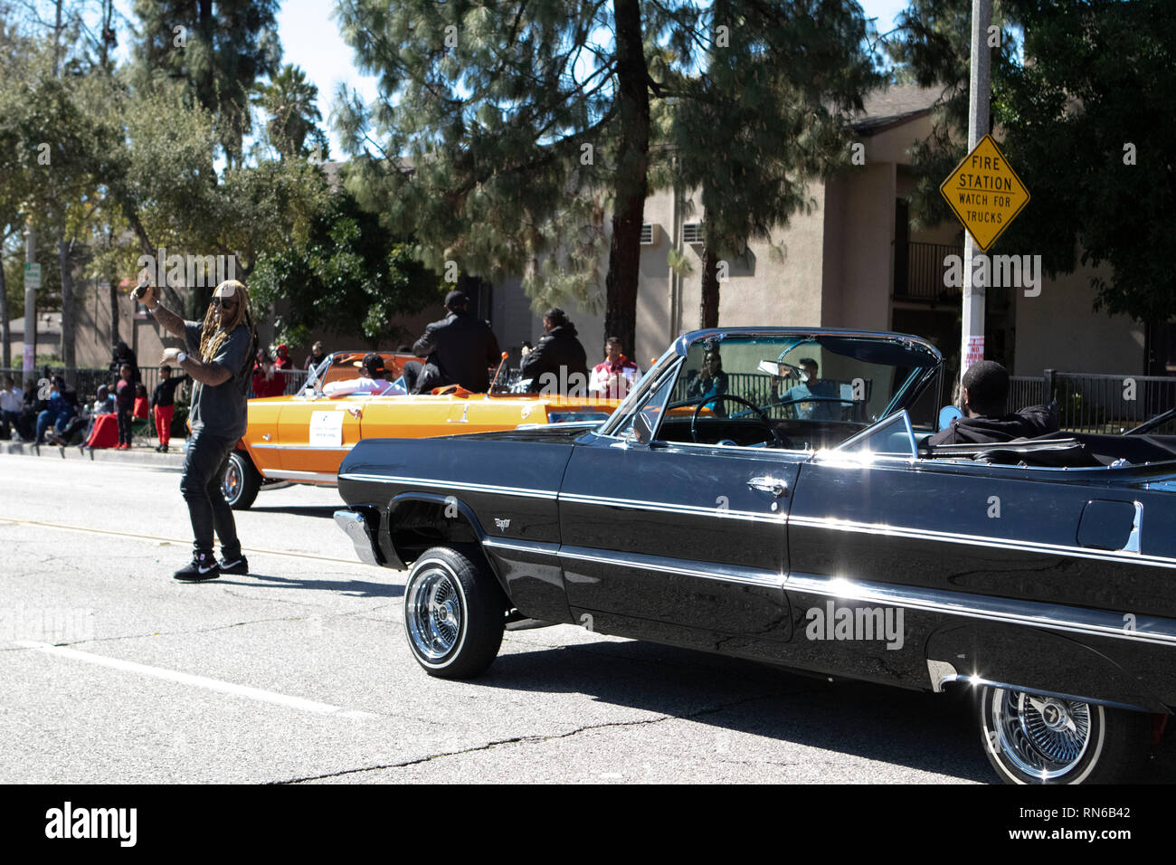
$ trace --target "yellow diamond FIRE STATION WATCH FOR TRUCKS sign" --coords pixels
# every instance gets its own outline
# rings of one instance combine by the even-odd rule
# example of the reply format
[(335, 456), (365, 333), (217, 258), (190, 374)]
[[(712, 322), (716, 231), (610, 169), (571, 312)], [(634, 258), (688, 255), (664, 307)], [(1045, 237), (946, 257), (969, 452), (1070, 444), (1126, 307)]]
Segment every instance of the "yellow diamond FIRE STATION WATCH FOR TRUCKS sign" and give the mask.
[(1029, 204), (1029, 189), (991, 135), (980, 139), (976, 149), (963, 158), (940, 192), (984, 252)]

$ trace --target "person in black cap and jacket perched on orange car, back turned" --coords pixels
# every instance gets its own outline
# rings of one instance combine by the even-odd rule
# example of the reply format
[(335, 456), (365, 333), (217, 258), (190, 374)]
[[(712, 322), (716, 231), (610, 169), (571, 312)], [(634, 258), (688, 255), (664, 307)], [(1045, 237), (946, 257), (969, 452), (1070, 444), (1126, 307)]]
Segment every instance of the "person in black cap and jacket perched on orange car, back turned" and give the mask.
[(487, 322), (469, 314), (465, 292), (449, 292), (445, 306), (449, 314), (426, 327), (413, 346), (413, 354), (425, 358), (413, 393), (428, 393), (445, 385), (485, 393), (490, 387), (488, 370), (502, 358), (499, 340)]

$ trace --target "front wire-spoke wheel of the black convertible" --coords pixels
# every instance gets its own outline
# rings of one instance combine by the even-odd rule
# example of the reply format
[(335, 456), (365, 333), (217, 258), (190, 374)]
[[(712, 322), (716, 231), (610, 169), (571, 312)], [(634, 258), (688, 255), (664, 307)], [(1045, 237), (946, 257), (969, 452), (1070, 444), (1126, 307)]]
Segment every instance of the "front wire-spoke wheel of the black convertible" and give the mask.
[(405, 584), (408, 646), (429, 676), (468, 679), (497, 657), (509, 604), (475, 550), (433, 547)]

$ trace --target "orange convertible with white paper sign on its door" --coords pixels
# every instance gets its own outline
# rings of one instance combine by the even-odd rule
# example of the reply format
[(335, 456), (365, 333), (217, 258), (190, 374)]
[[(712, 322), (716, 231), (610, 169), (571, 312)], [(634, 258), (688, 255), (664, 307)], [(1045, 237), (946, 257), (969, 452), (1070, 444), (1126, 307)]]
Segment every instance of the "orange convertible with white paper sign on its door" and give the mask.
[[(359, 378), (366, 352), (335, 352), (310, 372), (302, 392), (249, 400), (249, 426), (229, 455), (225, 499), (249, 507), (265, 486), (335, 485), (339, 464), (363, 438), (419, 439), (430, 435), (513, 430), (529, 424), (604, 420), (619, 400), (509, 393), (470, 393), (456, 386), (421, 395), (327, 395), (335, 381)], [(410, 375), (421, 361), (380, 352), (387, 379)], [(505, 357), (505, 355), (503, 355)], [(327, 387), (327, 390), (330, 390)]]

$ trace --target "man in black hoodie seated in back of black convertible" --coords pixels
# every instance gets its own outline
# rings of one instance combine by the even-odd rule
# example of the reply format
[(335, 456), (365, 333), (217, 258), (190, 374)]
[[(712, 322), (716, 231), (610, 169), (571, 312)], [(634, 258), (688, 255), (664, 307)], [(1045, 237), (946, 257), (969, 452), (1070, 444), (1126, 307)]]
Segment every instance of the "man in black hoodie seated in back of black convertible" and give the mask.
[(1013, 439), (1031, 439), (1056, 432), (1057, 406), (1030, 406), (1005, 414), (1009, 400), (1009, 373), (993, 360), (981, 360), (968, 367), (961, 382), (963, 417), (940, 430), (928, 445), (982, 445)]

